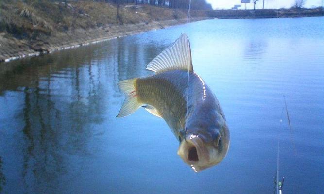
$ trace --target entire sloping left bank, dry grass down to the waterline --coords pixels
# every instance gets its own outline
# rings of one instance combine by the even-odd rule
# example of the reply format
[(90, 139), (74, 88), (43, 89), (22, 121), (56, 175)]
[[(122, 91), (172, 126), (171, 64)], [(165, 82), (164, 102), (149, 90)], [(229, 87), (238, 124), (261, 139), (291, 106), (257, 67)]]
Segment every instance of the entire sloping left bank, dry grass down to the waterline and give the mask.
[[(26, 3), (27, 2), (27, 3)], [(30, 2), (30, 3), (28, 3)], [(184, 23), (187, 10), (94, 1), (0, 1), (0, 61)], [(205, 18), (205, 11), (192, 11)]]

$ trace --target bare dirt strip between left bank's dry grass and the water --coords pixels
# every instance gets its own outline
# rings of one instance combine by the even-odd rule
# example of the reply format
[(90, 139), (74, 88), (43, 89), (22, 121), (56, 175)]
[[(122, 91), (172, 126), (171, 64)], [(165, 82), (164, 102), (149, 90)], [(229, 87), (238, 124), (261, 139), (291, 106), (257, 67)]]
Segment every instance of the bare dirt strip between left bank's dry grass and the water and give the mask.
[[(205, 19), (210, 18), (191, 18), (189, 23)], [(0, 52), (0, 65), (17, 59), (49, 54), (59, 50), (73, 49), (90, 44), (105, 42), (115, 38), (139, 34), (151, 30), (164, 29), (185, 23), (187, 23), (187, 19), (174, 19), (165, 21), (152, 21), (150, 23), (144, 22), (137, 24), (111, 25), (102, 28), (90, 29), (88, 31), (78, 29), (74, 32), (59, 34), (55, 37), (46, 37), (46, 40), (38, 40), (34, 43), (28, 43), (25, 41), (18, 42), (17, 40), (10, 39), (2, 41), (4, 38), (0, 33), (0, 40), (2, 42), (0, 44), (0, 47), (7, 46), (7, 48), (9, 48), (0, 50), (2, 51)], [(5, 42), (6, 44), (3, 42)], [(60, 44), (58, 44), (58, 42)], [(17, 44), (16, 48), (12, 48), (13, 43)]]

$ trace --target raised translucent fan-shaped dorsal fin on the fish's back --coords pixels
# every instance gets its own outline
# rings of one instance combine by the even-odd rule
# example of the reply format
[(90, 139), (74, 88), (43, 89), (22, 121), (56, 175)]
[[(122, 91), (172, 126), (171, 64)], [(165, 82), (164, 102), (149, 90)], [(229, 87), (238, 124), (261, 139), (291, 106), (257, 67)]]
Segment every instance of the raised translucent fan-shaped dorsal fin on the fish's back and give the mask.
[(186, 34), (181, 36), (167, 49), (157, 55), (146, 67), (156, 73), (172, 69), (183, 69), (193, 72), (191, 63), (191, 50)]

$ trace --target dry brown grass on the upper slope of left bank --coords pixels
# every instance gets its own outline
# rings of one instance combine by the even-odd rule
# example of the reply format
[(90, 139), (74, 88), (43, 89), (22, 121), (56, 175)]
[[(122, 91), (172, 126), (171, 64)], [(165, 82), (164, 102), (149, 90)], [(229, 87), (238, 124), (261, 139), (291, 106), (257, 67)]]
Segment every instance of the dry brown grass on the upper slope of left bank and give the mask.
[(117, 18), (116, 5), (105, 2), (79, 0), (68, 1), (65, 5), (63, 2), (46, 0), (3, 0), (0, 1), (0, 32), (18, 39), (37, 39), (42, 35), (75, 29), (182, 19), (186, 16), (187, 12), (182, 10), (122, 5)]

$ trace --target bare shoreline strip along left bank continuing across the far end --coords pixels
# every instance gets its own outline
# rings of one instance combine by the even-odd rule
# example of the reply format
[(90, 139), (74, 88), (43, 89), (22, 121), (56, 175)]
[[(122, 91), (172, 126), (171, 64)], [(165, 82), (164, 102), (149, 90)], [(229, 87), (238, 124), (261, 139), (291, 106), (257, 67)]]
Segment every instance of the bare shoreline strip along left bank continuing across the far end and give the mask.
[[(324, 16), (324, 10), (316, 9), (264, 9), (264, 10), (211, 10), (204, 17), (190, 18), (189, 22), (205, 19), (251, 19), (251, 18), (294, 18)], [(108, 41), (127, 35), (163, 29), (187, 23), (187, 19), (171, 19), (141, 22), (136, 24), (111, 24), (91, 29), (74, 29), (55, 35), (42, 35), (36, 40), (16, 39), (0, 32), (0, 68), (6, 62), (34, 57), (59, 50), (73, 49)]]

